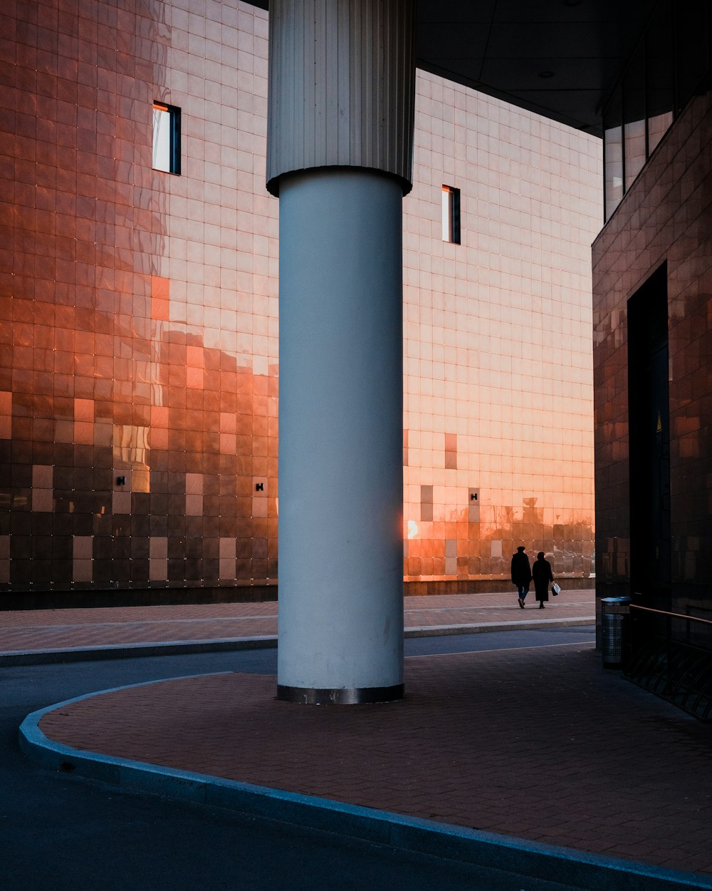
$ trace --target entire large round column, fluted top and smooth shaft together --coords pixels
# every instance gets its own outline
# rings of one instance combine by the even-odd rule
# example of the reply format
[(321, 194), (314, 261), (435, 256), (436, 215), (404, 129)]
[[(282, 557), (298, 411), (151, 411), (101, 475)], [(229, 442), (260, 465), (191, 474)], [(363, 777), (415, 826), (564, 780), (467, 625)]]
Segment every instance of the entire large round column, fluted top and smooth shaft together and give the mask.
[(403, 694), (401, 200), (412, 0), (272, 0), (278, 697)]

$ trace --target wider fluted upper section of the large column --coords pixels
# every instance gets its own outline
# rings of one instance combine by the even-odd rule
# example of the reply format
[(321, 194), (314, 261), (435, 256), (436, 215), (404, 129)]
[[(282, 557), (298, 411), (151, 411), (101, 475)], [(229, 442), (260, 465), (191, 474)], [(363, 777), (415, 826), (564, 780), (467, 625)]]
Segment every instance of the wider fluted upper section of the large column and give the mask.
[(415, 113), (409, 0), (272, 0), (267, 188), (311, 168), (380, 170), (410, 191)]

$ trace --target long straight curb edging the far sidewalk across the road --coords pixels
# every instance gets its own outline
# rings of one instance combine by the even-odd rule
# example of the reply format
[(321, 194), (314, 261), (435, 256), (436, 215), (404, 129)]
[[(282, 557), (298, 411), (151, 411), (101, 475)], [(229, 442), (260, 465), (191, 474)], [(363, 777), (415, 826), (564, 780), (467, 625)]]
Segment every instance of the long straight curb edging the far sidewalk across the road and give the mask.
[[(540, 627), (593, 625), (587, 618), (551, 618), (520, 622), (481, 622), (478, 625), (420, 625), (407, 628), (404, 637), (437, 637), (445, 634), (485, 634), (493, 631), (529, 631)], [(0, 667), (38, 666), (95, 659), (130, 659), (143, 656), (174, 656), (185, 653), (217, 653), (230, 650), (268, 650), (277, 646), (272, 635), (226, 637), (208, 641), (108, 643), (96, 647), (66, 647), (62, 650), (10, 650), (0, 652)]]

